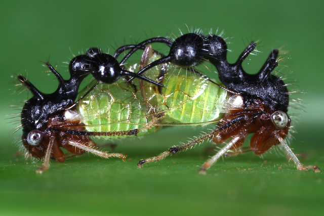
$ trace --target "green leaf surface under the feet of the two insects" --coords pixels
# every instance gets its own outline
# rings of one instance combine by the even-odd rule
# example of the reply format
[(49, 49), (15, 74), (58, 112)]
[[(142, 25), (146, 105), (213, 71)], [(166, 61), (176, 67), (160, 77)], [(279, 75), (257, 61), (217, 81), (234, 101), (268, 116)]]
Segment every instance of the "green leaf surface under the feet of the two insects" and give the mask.
[[(211, 143), (205, 142), (143, 168), (136, 166), (140, 159), (166, 150), (169, 143), (177, 143), (175, 138), (158, 142), (173, 133), (182, 134), (182, 140), (192, 134), (187, 129), (167, 128), (145, 139), (124, 139), (114, 151), (129, 153), (126, 162), (85, 154), (64, 163), (52, 161), (50, 169), (41, 175), (35, 173), (41, 162), (2, 153), (0, 185), (5, 187), (0, 194), (4, 212), (320, 215), (323, 210), (323, 172), (299, 171), (280, 151), (263, 158), (252, 152), (225, 157), (207, 175), (199, 175), (199, 166), (214, 153)], [(311, 159), (302, 162), (324, 167), (323, 157), (307, 150)]]

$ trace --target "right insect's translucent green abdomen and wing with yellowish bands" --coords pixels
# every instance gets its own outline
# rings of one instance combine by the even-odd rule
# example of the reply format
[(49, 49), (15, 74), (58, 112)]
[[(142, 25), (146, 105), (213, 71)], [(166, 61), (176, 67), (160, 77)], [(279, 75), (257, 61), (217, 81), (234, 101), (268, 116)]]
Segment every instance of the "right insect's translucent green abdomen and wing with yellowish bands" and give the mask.
[(204, 124), (219, 118), (227, 92), (206, 76), (186, 68), (168, 72), (158, 95), (160, 110), (168, 110), (166, 120), (178, 124)]

